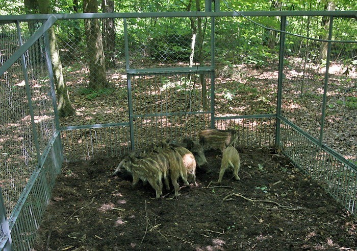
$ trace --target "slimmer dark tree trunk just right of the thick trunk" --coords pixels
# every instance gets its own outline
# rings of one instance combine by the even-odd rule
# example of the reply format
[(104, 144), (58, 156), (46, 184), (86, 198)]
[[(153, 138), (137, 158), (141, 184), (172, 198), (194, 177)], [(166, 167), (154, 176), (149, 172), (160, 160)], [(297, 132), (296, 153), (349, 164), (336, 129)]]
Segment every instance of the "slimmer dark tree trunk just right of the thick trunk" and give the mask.
[[(114, 1), (103, 0), (101, 3), (103, 13), (114, 12)], [(103, 48), (108, 68), (115, 67), (115, 24), (114, 18), (103, 19)]]

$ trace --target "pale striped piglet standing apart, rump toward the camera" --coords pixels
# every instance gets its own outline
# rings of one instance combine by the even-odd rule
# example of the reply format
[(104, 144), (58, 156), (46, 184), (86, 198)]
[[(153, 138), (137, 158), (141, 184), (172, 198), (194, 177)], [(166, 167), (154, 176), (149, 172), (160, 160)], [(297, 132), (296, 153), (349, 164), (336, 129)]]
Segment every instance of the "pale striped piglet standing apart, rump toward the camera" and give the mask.
[(240, 180), (238, 171), (240, 168), (240, 159), (237, 149), (233, 146), (228, 146), (224, 149), (222, 155), (221, 170), (219, 171), (218, 182), (222, 181), (224, 172), (227, 168), (233, 169), (233, 174), (237, 180)]

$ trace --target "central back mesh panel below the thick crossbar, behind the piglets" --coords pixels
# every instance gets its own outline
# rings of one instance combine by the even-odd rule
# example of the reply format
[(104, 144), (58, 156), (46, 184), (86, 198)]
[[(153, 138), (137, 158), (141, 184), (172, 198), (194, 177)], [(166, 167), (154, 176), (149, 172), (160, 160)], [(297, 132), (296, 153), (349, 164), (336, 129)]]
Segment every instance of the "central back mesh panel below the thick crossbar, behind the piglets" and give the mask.
[(130, 79), (135, 147), (195, 137), (199, 128), (210, 125), (210, 73), (134, 75)]

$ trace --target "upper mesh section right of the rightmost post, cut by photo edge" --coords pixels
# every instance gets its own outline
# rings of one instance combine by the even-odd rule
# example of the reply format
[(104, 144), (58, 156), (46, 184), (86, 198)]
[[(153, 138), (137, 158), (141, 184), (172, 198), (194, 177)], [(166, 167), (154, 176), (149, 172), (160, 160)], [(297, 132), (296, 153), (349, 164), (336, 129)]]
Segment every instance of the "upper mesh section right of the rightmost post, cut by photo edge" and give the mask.
[[(334, 18), (334, 38), (349, 40), (351, 19)], [(357, 163), (357, 43), (331, 44), (323, 143)]]

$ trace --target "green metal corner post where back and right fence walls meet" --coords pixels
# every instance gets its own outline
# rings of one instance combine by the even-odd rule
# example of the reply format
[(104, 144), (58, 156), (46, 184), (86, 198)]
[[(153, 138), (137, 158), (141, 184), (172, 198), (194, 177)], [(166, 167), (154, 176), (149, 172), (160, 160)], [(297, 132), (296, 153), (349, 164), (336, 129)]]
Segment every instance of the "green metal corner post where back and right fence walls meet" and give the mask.
[(285, 49), (285, 30), (286, 30), (286, 16), (282, 16), (280, 24), (280, 47), (279, 47), (279, 68), (277, 80), (277, 101), (276, 101), (276, 128), (275, 128), (275, 146), (280, 146), (280, 126), (282, 115), (282, 86), (284, 78), (284, 49)]

